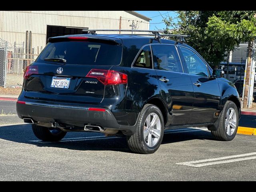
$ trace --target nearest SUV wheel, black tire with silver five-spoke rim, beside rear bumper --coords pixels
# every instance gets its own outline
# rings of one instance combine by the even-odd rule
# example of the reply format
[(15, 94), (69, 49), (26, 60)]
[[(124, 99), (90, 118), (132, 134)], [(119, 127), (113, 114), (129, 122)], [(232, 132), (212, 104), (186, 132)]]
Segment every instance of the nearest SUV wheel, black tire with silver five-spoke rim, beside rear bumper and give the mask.
[(136, 132), (126, 136), (130, 150), (141, 154), (152, 154), (160, 147), (164, 136), (164, 118), (161, 110), (146, 104), (142, 109)]

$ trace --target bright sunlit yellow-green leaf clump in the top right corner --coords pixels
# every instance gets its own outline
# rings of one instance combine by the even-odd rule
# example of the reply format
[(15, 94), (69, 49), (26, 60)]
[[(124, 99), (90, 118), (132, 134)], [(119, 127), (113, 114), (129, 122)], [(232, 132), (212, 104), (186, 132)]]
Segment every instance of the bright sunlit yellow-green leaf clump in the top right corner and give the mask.
[[(240, 43), (256, 37), (256, 11), (219, 11), (208, 18), (206, 35), (214, 38), (217, 47), (225, 44), (233, 50)], [(219, 44), (219, 42), (223, 42)]]

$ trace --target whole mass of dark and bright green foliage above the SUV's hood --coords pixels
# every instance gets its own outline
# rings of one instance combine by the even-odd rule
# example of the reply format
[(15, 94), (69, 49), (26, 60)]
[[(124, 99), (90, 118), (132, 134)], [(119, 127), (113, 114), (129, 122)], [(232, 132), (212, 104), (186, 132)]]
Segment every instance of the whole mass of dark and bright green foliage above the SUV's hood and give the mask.
[(256, 11), (178, 11), (177, 21), (164, 18), (165, 30), (188, 34), (186, 43), (212, 66), (219, 64), (240, 43), (256, 37)]

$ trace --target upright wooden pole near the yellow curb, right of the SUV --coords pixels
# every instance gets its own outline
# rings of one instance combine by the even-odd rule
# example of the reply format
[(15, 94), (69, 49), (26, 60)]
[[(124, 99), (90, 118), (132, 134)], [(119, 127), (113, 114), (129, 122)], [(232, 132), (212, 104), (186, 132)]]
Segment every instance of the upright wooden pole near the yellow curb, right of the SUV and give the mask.
[[(254, 15), (254, 17), (256, 18), (256, 14)], [(245, 79), (244, 79), (243, 108), (245, 109), (248, 109), (251, 107), (250, 98), (252, 97), (250, 96), (250, 93), (252, 94), (253, 91), (250, 91), (250, 90), (251, 89), (253, 90), (253, 85), (254, 85), (254, 71), (252, 71), (252, 69), (254, 69), (254, 66), (252, 65), (255, 65), (255, 59), (252, 58), (252, 55), (255, 54), (254, 52), (255, 52), (255, 39), (253, 38), (248, 42), (248, 55), (246, 60), (246, 68), (245, 68), (246, 71), (244, 74)], [(253, 84), (251, 80), (252, 77), (253, 77)]]

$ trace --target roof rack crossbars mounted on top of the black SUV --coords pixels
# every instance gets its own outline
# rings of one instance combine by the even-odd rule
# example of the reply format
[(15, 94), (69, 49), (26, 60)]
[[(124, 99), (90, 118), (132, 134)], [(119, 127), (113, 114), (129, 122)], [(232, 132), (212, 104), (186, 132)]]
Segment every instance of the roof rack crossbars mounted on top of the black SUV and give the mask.
[(184, 37), (190, 37), (190, 35), (178, 35), (178, 34), (160, 34), (168, 32), (165, 30), (130, 30), (130, 29), (83, 29), (82, 31), (88, 32), (88, 34), (96, 35), (96, 31), (116, 31), (116, 32), (151, 32), (152, 34), (113, 34), (113, 35), (138, 35), (138, 36), (155, 36), (155, 38), (161, 38), (161, 36), (170, 36), (180, 38), (180, 42), (185, 42)]

